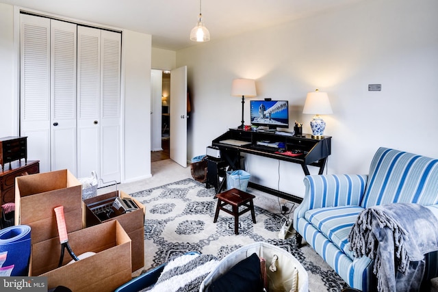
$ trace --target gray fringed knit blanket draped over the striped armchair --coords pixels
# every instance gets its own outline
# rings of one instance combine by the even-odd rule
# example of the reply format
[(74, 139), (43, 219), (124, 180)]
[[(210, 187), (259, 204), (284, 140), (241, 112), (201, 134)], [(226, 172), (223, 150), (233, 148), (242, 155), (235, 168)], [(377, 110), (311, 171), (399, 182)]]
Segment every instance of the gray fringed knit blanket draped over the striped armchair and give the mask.
[(438, 250), (438, 220), (420, 204), (363, 210), (348, 236), (356, 257), (374, 260), (378, 291), (420, 291), (424, 254)]

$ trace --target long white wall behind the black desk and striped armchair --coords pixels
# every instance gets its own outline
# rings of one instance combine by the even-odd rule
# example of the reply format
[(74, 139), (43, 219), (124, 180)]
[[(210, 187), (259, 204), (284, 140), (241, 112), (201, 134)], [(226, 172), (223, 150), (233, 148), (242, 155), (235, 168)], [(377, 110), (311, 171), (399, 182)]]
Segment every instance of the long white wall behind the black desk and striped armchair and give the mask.
[[(301, 114), (307, 92), (329, 94), (328, 173), (368, 173), (379, 146), (438, 158), (437, 11), (436, 0), (362, 1), (227, 40), (212, 34), (211, 42), (178, 51), (177, 66), (188, 66), (192, 91), (188, 157), (240, 124), (231, 81), (251, 78), (255, 99), (289, 100), (289, 118), (303, 122), (305, 133), (312, 118)], [(370, 83), (381, 83), (382, 91), (368, 92)], [(249, 103), (244, 120), (249, 124)], [(250, 156), (246, 170), (251, 181), (304, 194), (300, 165)]]

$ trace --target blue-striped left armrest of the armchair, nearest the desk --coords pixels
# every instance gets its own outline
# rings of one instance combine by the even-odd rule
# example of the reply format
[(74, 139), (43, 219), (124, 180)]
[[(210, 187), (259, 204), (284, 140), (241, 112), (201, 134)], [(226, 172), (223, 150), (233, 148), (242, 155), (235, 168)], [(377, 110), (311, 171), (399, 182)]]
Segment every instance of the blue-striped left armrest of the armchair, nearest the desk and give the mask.
[(324, 207), (359, 205), (368, 181), (367, 174), (322, 174), (304, 178), (305, 196), (294, 211), (294, 218), (307, 210)]

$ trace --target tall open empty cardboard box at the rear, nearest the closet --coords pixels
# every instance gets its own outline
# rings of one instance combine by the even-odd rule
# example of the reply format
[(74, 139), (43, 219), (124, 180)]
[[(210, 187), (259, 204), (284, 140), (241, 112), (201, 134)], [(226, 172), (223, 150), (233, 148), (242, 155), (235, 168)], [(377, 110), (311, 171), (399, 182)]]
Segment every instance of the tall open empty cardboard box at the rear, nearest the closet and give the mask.
[(83, 228), (82, 185), (68, 170), (16, 177), (15, 225), (31, 227), (31, 243), (58, 236), (53, 209), (59, 206), (67, 233)]

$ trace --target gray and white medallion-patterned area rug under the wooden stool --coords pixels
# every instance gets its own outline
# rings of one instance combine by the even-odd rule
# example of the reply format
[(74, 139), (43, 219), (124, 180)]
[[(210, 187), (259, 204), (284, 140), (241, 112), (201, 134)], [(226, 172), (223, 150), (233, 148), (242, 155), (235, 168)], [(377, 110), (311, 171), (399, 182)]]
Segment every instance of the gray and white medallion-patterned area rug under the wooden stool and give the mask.
[[(255, 206), (257, 224), (250, 212), (239, 217), (239, 235), (234, 217), (216, 211), (214, 189), (192, 179), (131, 194), (146, 207), (144, 223), (144, 267), (166, 263), (185, 252), (196, 251), (223, 258), (255, 241), (277, 245), (293, 254), (309, 274), (309, 291), (341, 291), (348, 287), (335, 271), (308, 245), (298, 249), (295, 236), (279, 239), (281, 216)], [(148, 268), (149, 267), (149, 268)]]

